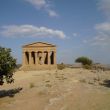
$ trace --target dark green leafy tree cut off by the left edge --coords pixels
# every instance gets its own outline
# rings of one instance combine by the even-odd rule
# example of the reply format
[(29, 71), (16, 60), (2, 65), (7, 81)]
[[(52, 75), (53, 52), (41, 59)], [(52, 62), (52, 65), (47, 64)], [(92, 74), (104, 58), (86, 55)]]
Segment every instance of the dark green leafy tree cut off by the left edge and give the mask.
[(4, 81), (14, 82), (13, 72), (16, 68), (16, 59), (11, 56), (11, 49), (0, 46), (0, 85)]

